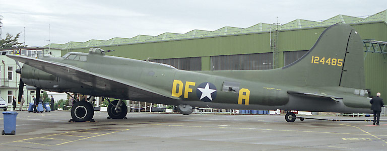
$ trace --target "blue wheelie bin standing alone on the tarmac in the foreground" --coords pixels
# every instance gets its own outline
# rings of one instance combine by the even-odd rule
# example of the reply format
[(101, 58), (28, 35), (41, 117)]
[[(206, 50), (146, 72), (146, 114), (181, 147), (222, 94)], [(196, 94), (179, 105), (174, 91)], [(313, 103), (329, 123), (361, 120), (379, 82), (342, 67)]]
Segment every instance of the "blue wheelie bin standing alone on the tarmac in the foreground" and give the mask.
[(18, 112), (3, 112), (4, 115), (4, 130), (2, 135), (15, 135), (16, 131), (16, 116)]

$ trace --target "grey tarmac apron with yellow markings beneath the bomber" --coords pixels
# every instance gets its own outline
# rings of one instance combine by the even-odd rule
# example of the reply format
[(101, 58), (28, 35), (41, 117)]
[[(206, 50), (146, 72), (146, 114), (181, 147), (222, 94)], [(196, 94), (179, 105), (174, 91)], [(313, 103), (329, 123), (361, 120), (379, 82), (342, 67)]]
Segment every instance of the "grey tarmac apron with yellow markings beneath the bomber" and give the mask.
[[(387, 122), (288, 123), (284, 115), (166, 113), (106, 119), (106, 112), (95, 112), (96, 122), (69, 122), (68, 111), (18, 112), (16, 135), (0, 136), (0, 150), (387, 150)], [(1, 117), (1, 130), (3, 123)]]

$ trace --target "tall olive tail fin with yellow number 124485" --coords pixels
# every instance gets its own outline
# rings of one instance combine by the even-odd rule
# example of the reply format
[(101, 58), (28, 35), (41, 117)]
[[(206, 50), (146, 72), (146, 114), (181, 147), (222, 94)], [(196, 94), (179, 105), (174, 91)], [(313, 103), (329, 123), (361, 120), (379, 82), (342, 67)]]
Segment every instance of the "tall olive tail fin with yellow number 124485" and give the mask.
[(304, 56), (282, 69), (307, 86), (365, 89), (361, 38), (347, 24), (328, 27)]

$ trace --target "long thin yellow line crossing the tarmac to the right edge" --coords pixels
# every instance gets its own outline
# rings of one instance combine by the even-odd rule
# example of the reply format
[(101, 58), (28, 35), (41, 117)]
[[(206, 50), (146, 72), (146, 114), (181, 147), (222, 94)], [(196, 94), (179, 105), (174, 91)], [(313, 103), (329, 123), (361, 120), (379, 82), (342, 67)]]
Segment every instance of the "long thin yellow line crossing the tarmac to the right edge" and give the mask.
[[(238, 128), (238, 127), (191, 126), (191, 125), (170, 125), (170, 124), (148, 124), (148, 125), (180, 126), (180, 127), (203, 127), (203, 128), (224, 128), (224, 129), (249, 129), (249, 130), (269, 130), (269, 131), (291, 131), (291, 132), (327, 133), (327, 134), (368, 135), (368, 134), (356, 134), (356, 133), (323, 132), (323, 131), (303, 131), (303, 130), (283, 130), (283, 129), (264, 129), (264, 128)], [(387, 135), (378, 135), (378, 136), (387, 136)]]

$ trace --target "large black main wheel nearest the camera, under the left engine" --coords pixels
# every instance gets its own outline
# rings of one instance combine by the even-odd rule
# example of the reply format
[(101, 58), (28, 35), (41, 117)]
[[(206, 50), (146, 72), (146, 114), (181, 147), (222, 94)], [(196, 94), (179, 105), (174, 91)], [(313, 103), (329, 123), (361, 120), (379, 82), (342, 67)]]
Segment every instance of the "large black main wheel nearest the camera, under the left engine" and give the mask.
[(93, 106), (86, 101), (79, 101), (71, 108), (71, 117), (75, 122), (90, 121), (94, 116)]

